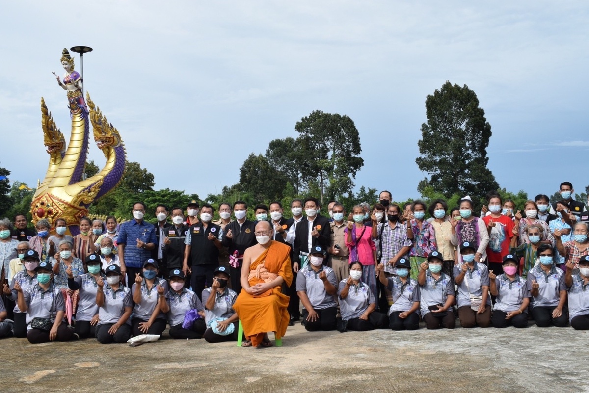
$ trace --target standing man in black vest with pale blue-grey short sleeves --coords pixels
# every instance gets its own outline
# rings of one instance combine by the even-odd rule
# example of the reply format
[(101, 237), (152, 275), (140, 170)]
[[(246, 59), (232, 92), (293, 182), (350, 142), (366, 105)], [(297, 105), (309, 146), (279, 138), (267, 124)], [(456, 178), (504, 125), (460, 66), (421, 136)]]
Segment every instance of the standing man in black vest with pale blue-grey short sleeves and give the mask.
[[(219, 250), (223, 247), (219, 241), (221, 227), (211, 223), (214, 208), (203, 204), (200, 222), (188, 229), (184, 244), (184, 275), (192, 274), (193, 291), (201, 296), (205, 288), (213, 285), (213, 274), (219, 267)], [(192, 257), (192, 269), (188, 267), (188, 258)]]

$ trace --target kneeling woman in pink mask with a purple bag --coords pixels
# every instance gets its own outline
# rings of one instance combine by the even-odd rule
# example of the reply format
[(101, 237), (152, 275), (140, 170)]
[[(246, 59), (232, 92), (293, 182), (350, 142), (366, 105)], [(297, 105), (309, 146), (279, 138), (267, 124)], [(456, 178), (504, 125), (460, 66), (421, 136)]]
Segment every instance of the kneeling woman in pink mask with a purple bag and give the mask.
[[(201, 338), (207, 325), (204, 323), (204, 307), (197, 295), (184, 288), (184, 273), (180, 269), (170, 271), (170, 290), (166, 302), (161, 304), (161, 311), (168, 314), (171, 338)], [(197, 317), (191, 328), (183, 328), (184, 316), (188, 311), (196, 310)]]

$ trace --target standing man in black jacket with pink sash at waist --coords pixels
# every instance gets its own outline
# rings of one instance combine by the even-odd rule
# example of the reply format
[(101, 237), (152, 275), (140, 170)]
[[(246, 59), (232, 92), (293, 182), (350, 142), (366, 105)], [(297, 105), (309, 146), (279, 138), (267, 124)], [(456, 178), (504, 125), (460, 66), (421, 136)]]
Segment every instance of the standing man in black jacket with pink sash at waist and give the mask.
[(233, 214), (235, 215), (236, 221), (227, 224), (221, 242), (224, 247), (227, 247), (227, 251), (229, 252), (231, 289), (239, 294), (241, 291), (240, 279), (243, 252), (247, 248), (257, 244), (256, 235), (254, 235), (256, 222), (249, 221), (246, 218), (247, 204), (244, 201), (237, 201), (233, 204)]

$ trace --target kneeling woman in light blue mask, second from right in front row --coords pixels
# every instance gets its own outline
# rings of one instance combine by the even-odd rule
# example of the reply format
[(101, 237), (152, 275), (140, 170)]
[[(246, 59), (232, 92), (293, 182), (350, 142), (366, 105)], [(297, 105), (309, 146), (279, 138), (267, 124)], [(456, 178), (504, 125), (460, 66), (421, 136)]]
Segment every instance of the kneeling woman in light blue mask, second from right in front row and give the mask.
[(554, 249), (551, 245), (541, 244), (538, 247), (540, 265), (528, 272), (532, 317), (540, 328), (554, 325), (564, 328), (568, 324), (564, 304), (567, 301), (567, 285), (564, 282), (564, 271), (554, 264)]

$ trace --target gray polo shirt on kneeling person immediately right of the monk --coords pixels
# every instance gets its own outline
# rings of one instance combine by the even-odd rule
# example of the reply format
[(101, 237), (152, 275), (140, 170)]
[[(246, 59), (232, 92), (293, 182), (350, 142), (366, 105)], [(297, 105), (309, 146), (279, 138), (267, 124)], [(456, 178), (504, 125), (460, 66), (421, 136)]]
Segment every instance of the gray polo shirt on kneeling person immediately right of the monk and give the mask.
[(319, 271), (315, 272), (310, 265), (307, 265), (299, 270), (296, 277), (296, 291), (306, 292), (312, 307), (319, 310), (337, 307), (335, 296), (327, 293), (323, 280), (319, 278), (319, 273), (322, 271), (327, 275), (327, 281), (337, 288), (335, 273), (332, 268), (326, 266), (322, 266)]

